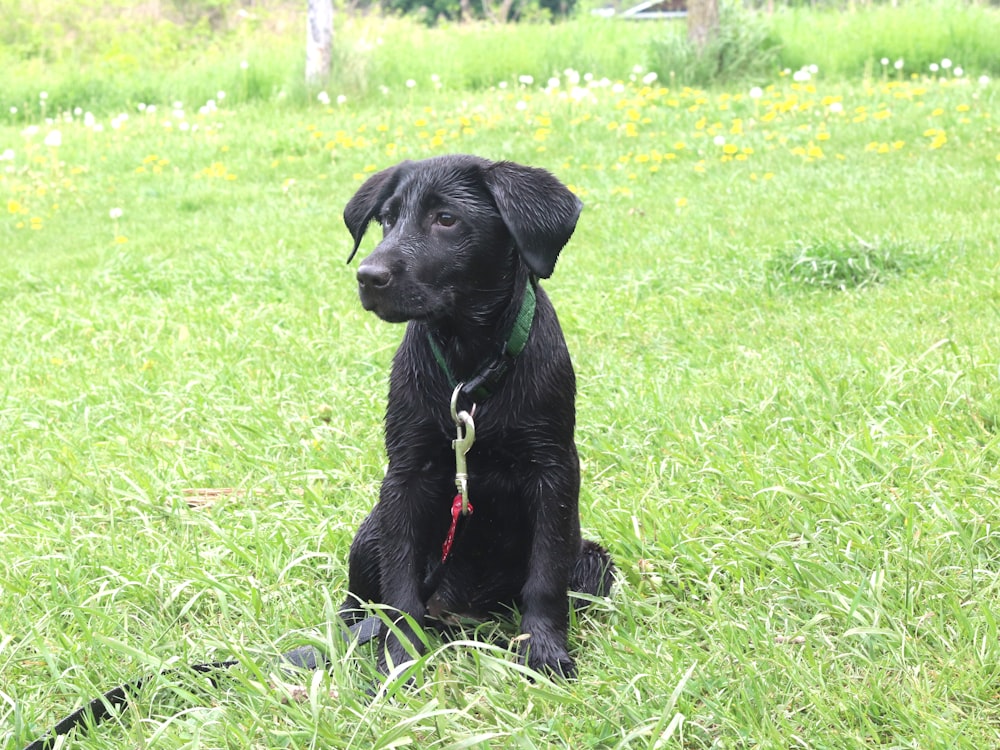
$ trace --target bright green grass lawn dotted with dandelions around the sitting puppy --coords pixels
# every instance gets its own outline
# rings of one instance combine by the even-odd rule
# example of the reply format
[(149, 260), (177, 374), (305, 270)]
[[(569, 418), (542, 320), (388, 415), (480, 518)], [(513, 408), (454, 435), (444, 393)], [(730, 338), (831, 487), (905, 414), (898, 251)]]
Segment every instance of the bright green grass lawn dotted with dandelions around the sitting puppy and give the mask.
[[(70, 744), (1000, 746), (997, 84), (592, 72), (0, 124), (0, 746), (231, 655)], [(586, 204), (545, 287), (621, 583), (577, 682), (486, 628), (369, 701), (324, 623), (402, 329), (361, 310), (340, 212), (448, 151)], [(286, 702), (257, 665), (303, 642), (336, 665)]]

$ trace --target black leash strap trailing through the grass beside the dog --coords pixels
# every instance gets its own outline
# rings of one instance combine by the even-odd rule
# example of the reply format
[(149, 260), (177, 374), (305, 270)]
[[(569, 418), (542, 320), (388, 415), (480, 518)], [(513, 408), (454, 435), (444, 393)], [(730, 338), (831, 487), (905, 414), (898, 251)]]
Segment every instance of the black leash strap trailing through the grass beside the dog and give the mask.
[[(382, 628), (382, 621), (377, 617), (367, 617), (360, 622), (351, 625), (344, 633), (344, 640), (358, 643), (367, 643), (375, 638)], [(328, 663), (326, 655), (315, 646), (300, 646), (299, 648), (286, 651), (278, 657), (276, 666), (284, 671), (290, 669), (316, 670), (325, 667)], [(230, 667), (236, 666), (239, 661), (231, 659), (227, 661), (212, 661), (204, 664), (192, 664), (189, 667), (176, 669), (165, 669), (162, 672), (143, 675), (138, 679), (118, 685), (100, 698), (94, 698), (90, 703), (78, 708), (66, 718), (58, 722), (52, 731), (44, 737), (39, 737), (34, 742), (26, 745), (24, 750), (51, 750), (56, 743), (56, 738), (63, 734), (69, 734), (78, 726), (89, 724), (96, 726), (108, 719), (116, 711), (121, 711), (128, 706), (129, 696), (142, 688), (150, 680), (158, 676), (170, 676), (188, 669), (198, 674), (207, 675), (212, 683), (212, 687), (218, 687), (218, 678)]]

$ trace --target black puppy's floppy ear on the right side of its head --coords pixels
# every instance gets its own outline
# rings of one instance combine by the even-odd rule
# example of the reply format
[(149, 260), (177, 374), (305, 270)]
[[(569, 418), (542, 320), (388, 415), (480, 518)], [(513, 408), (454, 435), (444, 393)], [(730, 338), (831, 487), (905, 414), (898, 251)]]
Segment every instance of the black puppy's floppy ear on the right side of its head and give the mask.
[(547, 279), (573, 235), (583, 204), (544, 169), (502, 161), (484, 174), (521, 259), (532, 273)]

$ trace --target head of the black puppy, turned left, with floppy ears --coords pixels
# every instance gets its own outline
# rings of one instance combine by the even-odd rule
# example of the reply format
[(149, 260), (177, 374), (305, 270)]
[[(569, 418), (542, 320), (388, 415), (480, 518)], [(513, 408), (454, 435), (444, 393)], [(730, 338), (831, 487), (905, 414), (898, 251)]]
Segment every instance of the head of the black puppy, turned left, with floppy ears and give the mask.
[(455, 314), (510, 285), (520, 263), (552, 275), (582, 204), (542, 169), (475, 156), (405, 161), (370, 177), (344, 209), (354, 258), (368, 225), (383, 239), (358, 269), (366, 310), (390, 322)]

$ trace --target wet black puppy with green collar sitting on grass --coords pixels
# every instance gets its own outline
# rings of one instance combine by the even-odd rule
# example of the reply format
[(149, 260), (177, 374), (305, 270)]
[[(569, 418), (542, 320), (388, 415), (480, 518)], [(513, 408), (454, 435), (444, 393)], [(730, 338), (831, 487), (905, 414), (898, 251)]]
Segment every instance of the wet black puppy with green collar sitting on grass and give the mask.
[[(605, 595), (614, 571), (580, 537), (576, 380), (537, 279), (552, 274), (581, 208), (543, 170), (440, 156), (378, 172), (344, 209), (348, 262), (372, 220), (383, 230), (358, 269), (362, 304), (409, 321), (389, 384), (388, 471), (351, 545), (348, 624), (365, 602), (419, 626), (516, 607), (522, 660), (575, 674), (567, 592)], [(473, 426), (456, 496), (465, 448), (452, 440), (471, 442)], [(396, 625), (419, 651), (406, 619)], [(397, 634), (383, 638), (387, 672), (408, 657)]]

